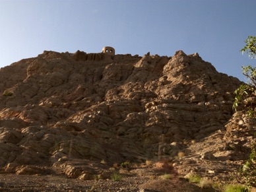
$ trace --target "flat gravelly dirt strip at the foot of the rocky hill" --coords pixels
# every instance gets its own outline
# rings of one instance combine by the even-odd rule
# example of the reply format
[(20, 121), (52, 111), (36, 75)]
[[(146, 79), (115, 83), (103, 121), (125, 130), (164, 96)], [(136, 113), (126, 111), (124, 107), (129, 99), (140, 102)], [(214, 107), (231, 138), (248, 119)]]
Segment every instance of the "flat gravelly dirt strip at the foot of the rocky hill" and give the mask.
[(0, 175), (0, 191), (215, 191), (202, 189), (185, 179), (124, 177), (121, 181), (79, 180), (65, 176)]

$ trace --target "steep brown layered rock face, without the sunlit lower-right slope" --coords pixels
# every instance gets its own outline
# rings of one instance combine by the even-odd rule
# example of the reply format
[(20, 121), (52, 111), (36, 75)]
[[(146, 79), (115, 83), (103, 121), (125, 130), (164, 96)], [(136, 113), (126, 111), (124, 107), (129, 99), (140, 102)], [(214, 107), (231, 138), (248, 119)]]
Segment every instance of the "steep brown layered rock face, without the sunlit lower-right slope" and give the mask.
[(0, 80), (0, 166), (23, 166), (18, 174), (63, 158), (177, 156), (184, 141), (224, 131), (241, 83), (183, 51), (173, 57), (44, 51), (0, 69)]

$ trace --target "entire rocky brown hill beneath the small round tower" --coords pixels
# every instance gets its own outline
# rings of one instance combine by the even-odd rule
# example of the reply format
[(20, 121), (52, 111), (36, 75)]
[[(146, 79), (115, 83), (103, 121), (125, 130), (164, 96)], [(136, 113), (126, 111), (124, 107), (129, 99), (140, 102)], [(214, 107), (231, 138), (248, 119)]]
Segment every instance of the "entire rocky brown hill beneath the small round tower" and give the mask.
[[(5, 176), (92, 180), (86, 184), (90, 188), (95, 176), (108, 181), (113, 170), (129, 162), (133, 166), (123, 176), (143, 179), (122, 183), (124, 191), (161, 187), (154, 183), (166, 182), (158, 180), (161, 169), (177, 182), (191, 172), (228, 182), (253, 139), (245, 115), (232, 110), (240, 80), (218, 73), (198, 53), (140, 57), (44, 51), (1, 68), (0, 81)], [(95, 189), (106, 185), (121, 190), (111, 188), (113, 183)]]

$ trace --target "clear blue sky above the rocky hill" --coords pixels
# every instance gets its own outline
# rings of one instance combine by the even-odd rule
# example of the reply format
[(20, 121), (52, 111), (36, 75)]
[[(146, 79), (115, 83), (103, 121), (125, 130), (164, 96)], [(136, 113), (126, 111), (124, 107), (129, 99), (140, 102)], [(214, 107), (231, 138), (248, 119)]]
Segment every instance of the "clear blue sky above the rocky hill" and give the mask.
[(0, 0), (0, 67), (44, 50), (199, 55), (240, 80), (256, 0)]

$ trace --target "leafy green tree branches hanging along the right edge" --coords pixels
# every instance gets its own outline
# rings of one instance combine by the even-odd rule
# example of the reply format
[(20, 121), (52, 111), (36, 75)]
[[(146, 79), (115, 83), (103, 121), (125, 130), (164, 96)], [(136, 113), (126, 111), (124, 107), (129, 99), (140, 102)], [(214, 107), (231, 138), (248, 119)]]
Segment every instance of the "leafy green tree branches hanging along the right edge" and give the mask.
[[(245, 46), (241, 49), (242, 52), (249, 54), (251, 59), (256, 59), (256, 36), (248, 36), (245, 40)], [(256, 119), (256, 67), (248, 65), (242, 67), (243, 75), (247, 79), (247, 83), (243, 83), (234, 92), (235, 100), (233, 104), (234, 110), (243, 110), (247, 117), (251, 120), (251, 124), (255, 127)], [(256, 134), (256, 133), (255, 133)], [(253, 140), (251, 143), (251, 154), (248, 160), (243, 164), (240, 169), (241, 182), (245, 182), (247, 187), (256, 187), (256, 142)]]

